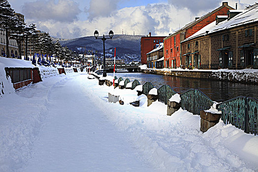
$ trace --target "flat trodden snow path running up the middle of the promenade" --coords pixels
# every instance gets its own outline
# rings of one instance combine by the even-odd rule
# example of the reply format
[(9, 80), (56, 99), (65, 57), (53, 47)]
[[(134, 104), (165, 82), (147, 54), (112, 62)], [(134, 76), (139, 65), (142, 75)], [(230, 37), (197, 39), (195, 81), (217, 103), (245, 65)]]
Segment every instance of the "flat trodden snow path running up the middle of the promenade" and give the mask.
[(23, 172), (151, 171), (74, 78), (48, 94), (47, 122)]

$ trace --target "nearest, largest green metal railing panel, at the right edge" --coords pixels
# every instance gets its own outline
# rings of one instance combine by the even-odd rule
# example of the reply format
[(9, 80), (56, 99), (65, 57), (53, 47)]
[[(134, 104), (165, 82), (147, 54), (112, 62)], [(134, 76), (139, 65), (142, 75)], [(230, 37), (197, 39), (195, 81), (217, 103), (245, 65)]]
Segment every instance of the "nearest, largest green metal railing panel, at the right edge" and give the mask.
[(258, 99), (238, 96), (217, 105), (225, 124), (232, 124), (245, 133), (258, 132)]

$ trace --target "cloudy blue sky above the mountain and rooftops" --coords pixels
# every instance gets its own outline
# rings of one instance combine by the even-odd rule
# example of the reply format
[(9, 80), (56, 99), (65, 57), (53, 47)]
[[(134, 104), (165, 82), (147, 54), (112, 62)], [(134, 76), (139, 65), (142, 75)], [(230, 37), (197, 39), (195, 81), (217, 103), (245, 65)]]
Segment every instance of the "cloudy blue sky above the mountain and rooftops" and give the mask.
[(25, 23), (53, 37), (71, 39), (114, 34), (166, 36), (206, 13), (223, 1), (244, 9), (255, 0), (9, 0), (25, 15)]

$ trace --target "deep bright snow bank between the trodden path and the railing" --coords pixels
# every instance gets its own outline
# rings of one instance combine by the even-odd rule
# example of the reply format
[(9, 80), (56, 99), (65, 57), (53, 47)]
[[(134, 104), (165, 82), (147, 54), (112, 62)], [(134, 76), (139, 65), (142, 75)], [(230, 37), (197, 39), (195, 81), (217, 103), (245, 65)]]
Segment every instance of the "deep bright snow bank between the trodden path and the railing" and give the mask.
[[(92, 101), (129, 134), (141, 152), (141, 159), (150, 161), (157, 171), (258, 171), (257, 136), (223, 121), (203, 134), (199, 115), (180, 109), (167, 116), (166, 105), (154, 102), (147, 107), (146, 98), (142, 98), (144, 103), (140, 107), (108, 103), (105, 98), (108, 92), (129, 100), (129, 90), (98, 86), (97, 80), (88, 80), (85, 86)], [(133, 90), (130, 93), (136, 94)]]

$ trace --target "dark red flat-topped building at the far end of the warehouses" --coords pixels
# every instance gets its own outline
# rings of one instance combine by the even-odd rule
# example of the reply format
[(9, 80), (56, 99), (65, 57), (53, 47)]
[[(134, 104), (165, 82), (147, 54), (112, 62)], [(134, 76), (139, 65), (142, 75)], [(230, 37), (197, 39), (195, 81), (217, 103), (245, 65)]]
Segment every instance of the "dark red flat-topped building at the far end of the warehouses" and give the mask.
[(151, 32), (141, 37), (141, 63), (147, 64), (147, 53), (156, 49), (163, 42), (165, 36), (151, 36)]

